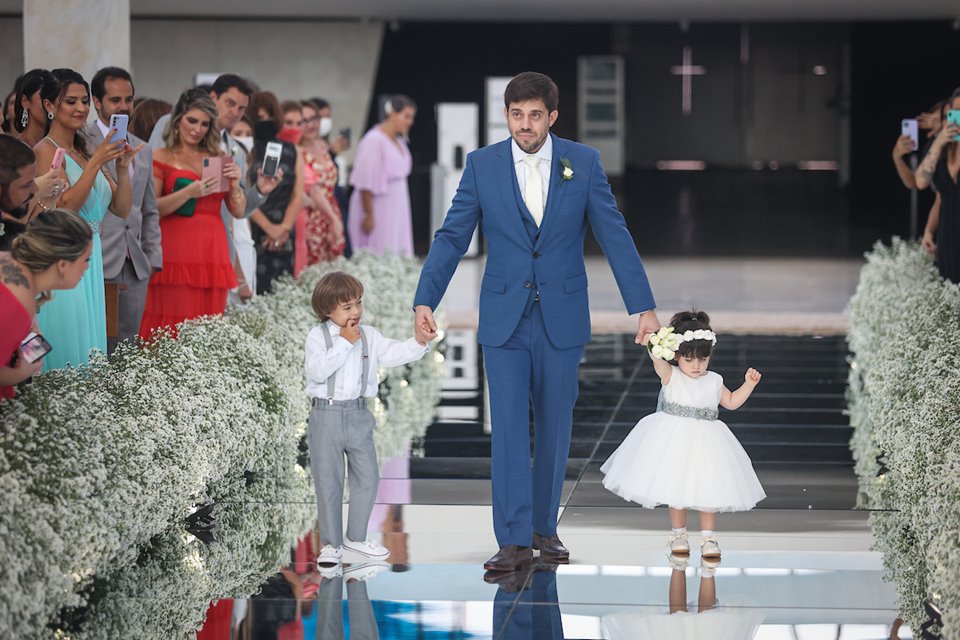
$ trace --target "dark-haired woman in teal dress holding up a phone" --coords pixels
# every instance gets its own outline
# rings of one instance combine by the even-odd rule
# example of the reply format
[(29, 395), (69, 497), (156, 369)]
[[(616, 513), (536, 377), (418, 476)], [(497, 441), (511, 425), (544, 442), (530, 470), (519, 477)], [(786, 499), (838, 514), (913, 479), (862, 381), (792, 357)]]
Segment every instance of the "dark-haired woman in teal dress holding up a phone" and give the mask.
[[(130, 213), (130, 163), (137, 149), (125, 141), (104, 141), (92, 153), (82, 129), (90, 115), (90, 88), (70, 69), (54, 69), (40, 88), (49, 129), (34, 151), (37, 166), (49, 167), (57, 149), (63, 149), (60, 171), (69, 188), (57, 205), (76, 212), (93, 229), (90, 268), (76, 288), (58, 291), (38, 315), (40, 332), (53, 347), (43, 359), (43, 370), (85, 364), (92, 349), (107, 350), (107, 322), (103, 293), (103, 255), (100, 222), (109, 210), (126, 218)], [(116, 161), (116, 181), (108, 163)]]

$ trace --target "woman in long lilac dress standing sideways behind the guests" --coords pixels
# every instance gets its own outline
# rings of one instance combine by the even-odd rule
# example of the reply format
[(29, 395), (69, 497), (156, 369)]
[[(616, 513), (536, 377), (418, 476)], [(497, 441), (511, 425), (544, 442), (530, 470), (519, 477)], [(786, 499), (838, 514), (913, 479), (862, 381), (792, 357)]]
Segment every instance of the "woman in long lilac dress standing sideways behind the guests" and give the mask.
[(384, 106), (386, 116), (357, 145), (350, 174), (348, 230), (354, 250), (377, 255), (392, 251), (413, 255), (413, 218), (407, 178), (413, 158), (404, 139), (417, 115), (417, 105), (397, 95)]

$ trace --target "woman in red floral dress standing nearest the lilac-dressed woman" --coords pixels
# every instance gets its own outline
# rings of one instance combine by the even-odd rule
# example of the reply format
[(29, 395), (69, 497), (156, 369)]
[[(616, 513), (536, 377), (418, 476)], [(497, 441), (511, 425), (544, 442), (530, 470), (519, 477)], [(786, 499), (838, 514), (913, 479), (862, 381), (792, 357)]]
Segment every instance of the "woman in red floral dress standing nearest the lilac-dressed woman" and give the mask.
[(331, 120), (324, 121), (312, 102), (305, 101), (302, 107), (304, 207), (297, 216), (294, 256), (294, 275), (297, 276), (304, 267), (340, 257), (346, 245), (343, 217), (334, 196), (337, 165), (323, 139), (324, 125), (329, 133)]

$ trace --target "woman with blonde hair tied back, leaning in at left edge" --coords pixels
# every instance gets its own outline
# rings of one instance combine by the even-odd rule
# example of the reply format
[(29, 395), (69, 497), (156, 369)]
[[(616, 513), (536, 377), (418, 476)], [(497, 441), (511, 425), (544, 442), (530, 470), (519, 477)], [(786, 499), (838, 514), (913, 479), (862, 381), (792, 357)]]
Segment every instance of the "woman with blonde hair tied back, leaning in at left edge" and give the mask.
[(21, 343), (50, 291), (77, 286), (92, 251), (90, 225), (70, 211), (49, 209), (27, 224), (10, 253), (0, 253), (0, 401), (14, 397), (14, 385), (40, 373), (43, 359), (29, 362)]

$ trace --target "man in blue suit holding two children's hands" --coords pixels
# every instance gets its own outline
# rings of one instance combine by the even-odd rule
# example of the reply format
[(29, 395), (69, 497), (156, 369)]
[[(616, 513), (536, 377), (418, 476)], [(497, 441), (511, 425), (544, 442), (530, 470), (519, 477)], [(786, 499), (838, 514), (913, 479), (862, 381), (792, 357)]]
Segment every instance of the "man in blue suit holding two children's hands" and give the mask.
[(514, 571), (532, 560), (534, 549), (544, 559), (570, 557), (557, 537), (557, 516), (578, 369), (590, 340), (583, 262), (588, 222), (627, 311), (640, 314), (637, 344), (646, 344), (646, 336), (660, 327), (643, 264), (599, 153), (550, 133), (558, 100), (557, 85), (540, 73), (521, 73), (507, 85), (510, 139), (467, 156), (414, 300), (420, 338), (435, 330), (433, 309), (474, 229), (482, 225), (488, 255), (477, 339), (490, 390), (493, 523), (500, 545), (484, 564), (488, 571)]

